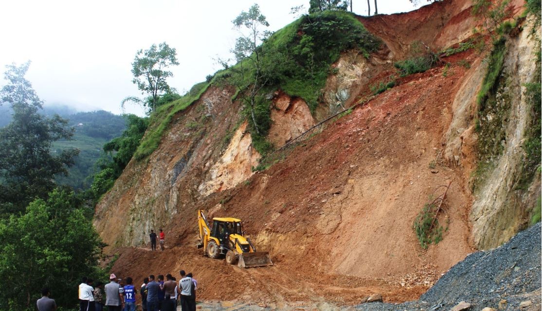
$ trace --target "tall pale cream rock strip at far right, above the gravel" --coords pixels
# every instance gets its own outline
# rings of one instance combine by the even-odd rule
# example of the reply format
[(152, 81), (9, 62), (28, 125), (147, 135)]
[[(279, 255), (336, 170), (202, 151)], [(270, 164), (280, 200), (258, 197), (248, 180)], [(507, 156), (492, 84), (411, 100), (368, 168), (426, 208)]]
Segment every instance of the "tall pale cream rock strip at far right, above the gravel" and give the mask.
[(506, 122), (502, 124), (506, 140), (500, 157), (494, 161), (495, 166), (475, 193), (470, 213), (474, 242), (479, 249), (499, 246), (516, 234), (525, 224), (528, 208), (540, 194), (539, 182), (526, 193), (515, 189), (523, 166), (522, 144), (531, 111), (524, 84), (532, 82), (535, 70), (532, 59), (537, 48), (528, 29), (530, 27), (507, 42), (498, 90), (505, 94), (498, 94), (498, 98), (508, 101), (510, 107)]

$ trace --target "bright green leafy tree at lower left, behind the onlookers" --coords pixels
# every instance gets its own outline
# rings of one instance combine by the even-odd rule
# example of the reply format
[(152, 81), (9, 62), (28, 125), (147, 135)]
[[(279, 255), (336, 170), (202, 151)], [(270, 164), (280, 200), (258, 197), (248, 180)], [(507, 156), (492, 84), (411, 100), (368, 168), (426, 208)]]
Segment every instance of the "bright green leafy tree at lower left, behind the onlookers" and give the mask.
[(42, 287), (57, 305), (74, 309), (82, 276), (101, 277), (104, 246), (72, 191), (55, 189), (21, 216), (0, 220), (1, 310), (34, 310)]

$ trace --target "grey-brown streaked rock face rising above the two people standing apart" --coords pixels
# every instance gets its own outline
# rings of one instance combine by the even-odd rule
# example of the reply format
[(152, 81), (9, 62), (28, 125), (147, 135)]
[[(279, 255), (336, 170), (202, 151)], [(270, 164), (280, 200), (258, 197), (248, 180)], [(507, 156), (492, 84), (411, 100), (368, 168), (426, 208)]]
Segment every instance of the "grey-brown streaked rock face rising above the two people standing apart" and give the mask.
[[(231, 95), (231, 89), (209, 88), (197, 103), (173, 117), (169, 133), (148, 161), (132, 160), (128, 164), (96, 206), (94, 225), (106, 243), (138, 246), (149, 240), (150, 229), (165, 227), (183, 207), (198, 200), (198, 186), (205, 176), (218, 171), (211, 170), (212, 164), (220, 161), (223, 136), (238, 120), (240, 107), (231, 102)], [(212, 135), (209, 129), (214, 131)], [(247, 138), (238, 145), (243, 142)], [(248, 148), (244, 151), (250, 153)], [(236, 158), (250, 159), (246, 160), (248, 166), (257, 156), (252, 153)], [(240, 174), (247, 174), (246, 167)], [(237, 179), (225, 183), (229, 186)]]

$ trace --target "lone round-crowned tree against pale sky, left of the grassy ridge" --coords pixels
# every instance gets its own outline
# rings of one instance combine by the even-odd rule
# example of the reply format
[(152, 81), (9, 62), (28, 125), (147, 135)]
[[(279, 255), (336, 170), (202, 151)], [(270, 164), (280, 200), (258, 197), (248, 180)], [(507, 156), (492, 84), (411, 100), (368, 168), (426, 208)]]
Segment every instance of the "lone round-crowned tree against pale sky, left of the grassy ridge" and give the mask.
[(167, 84), (166, 79), (172, 77), (173, 73), (167, 68), (172, 65), (178, 65), (177, 51), (170, 48), (163, 42), (156, 46), (151, 45), (148, 50), (139, 50), (132, 63), (132, 82), (137, 84), (141, 94), (148, 94), (149, 100), (139, 100), (137, 97), (126, 97), (122, 105), (127, 101), (141, 103), (152, 112), (156, 109), (156, 104), (160, 95), (170, 92), (172, 89)]

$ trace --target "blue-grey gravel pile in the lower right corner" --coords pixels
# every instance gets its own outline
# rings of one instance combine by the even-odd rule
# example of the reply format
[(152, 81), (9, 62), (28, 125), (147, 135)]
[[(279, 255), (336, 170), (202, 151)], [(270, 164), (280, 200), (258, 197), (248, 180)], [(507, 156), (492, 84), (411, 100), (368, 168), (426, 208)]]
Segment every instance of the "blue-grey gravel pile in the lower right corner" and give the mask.
[[(449, 310), (471, 303), (469, 310), (540, 309), (540, 223), (521, 231), (502, 246), (468, 255), (438, 280), (420, 300), (399, 305), (363, 303), (358, 310)], [(506, 301), (504, 301), (506, 300)], [(531, 300), (533, 305), (520, 308)]]

